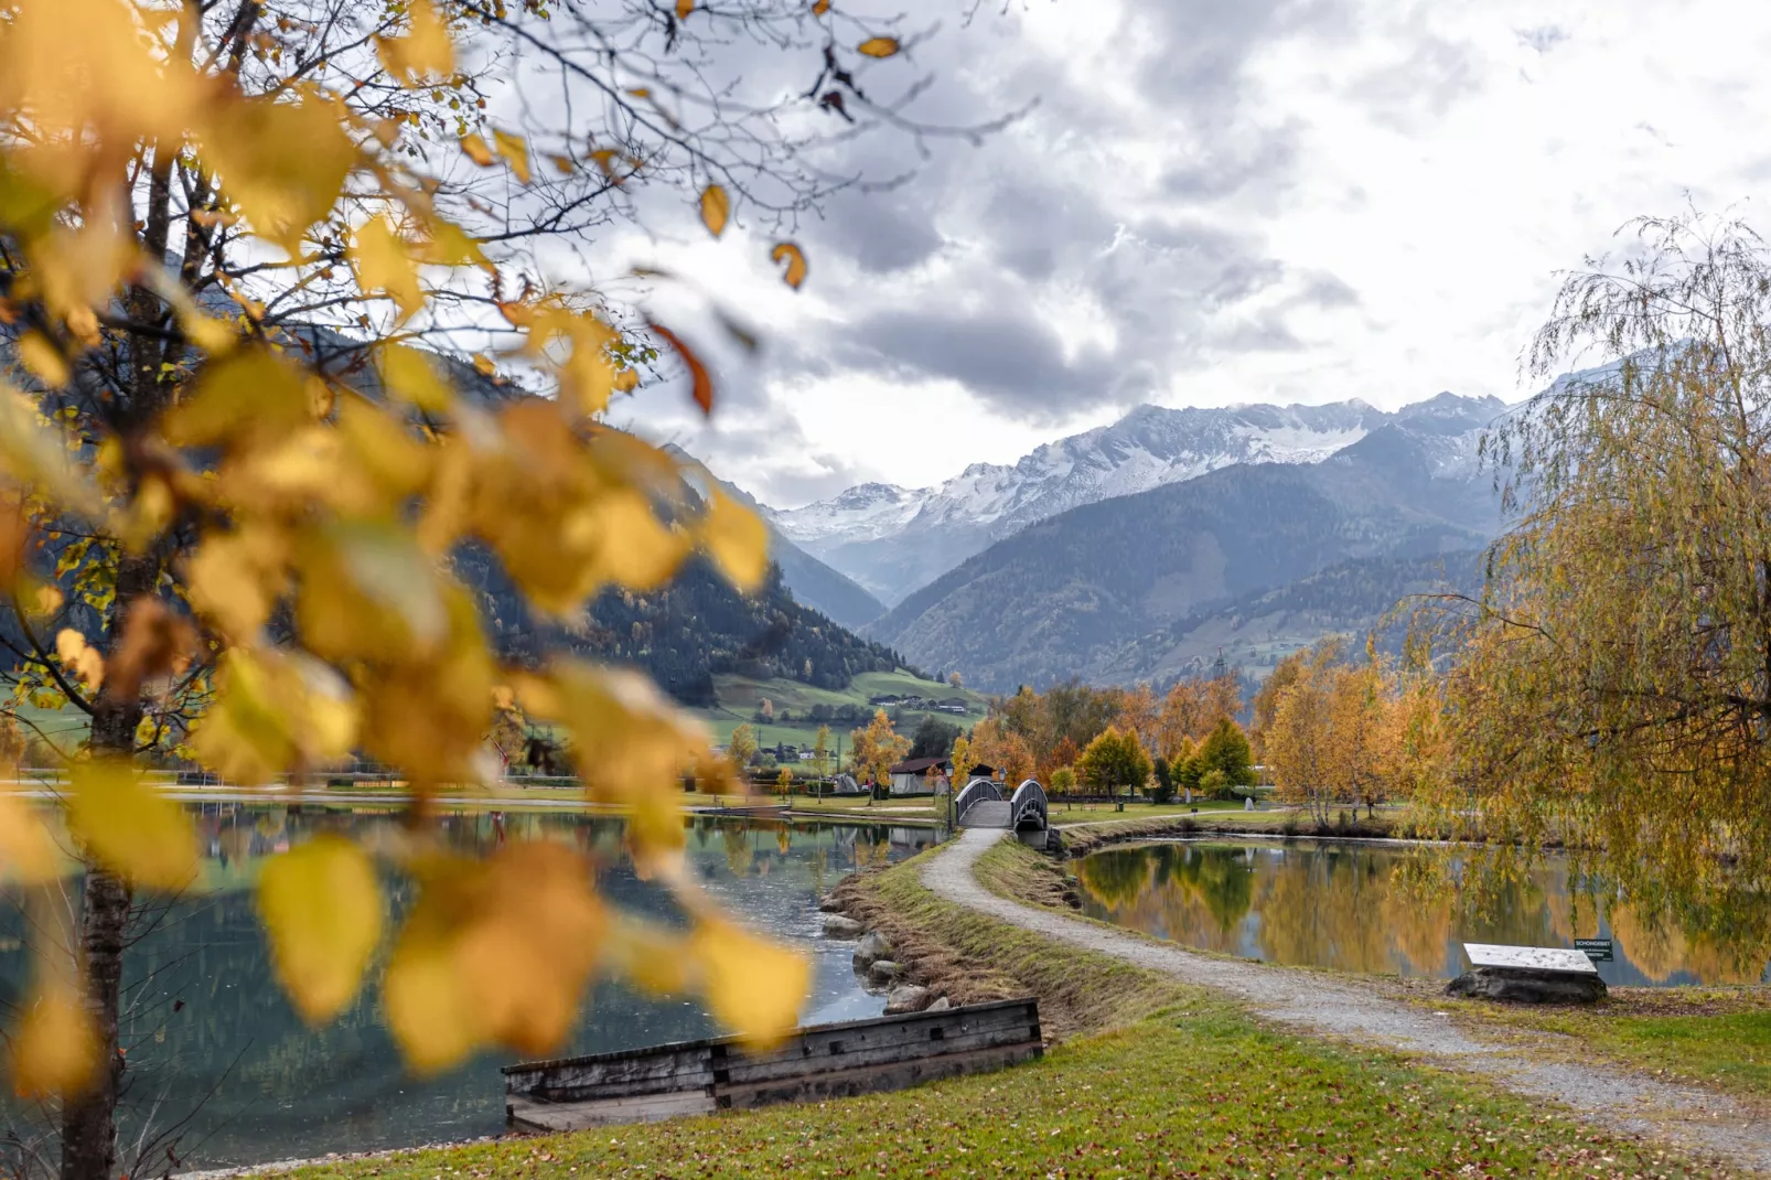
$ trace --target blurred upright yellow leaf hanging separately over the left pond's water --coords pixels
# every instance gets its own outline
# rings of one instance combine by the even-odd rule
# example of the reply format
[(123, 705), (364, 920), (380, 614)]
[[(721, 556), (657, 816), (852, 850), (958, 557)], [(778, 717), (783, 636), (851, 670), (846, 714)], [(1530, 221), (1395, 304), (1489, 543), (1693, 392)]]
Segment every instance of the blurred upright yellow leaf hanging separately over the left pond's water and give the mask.
[(381, 886), (368, 856), (331, 835), (283, 852), (259, 877), (259, 914), (276, 978), (301, 1017), (322, 1024), (344, 1012), (381, 943)]

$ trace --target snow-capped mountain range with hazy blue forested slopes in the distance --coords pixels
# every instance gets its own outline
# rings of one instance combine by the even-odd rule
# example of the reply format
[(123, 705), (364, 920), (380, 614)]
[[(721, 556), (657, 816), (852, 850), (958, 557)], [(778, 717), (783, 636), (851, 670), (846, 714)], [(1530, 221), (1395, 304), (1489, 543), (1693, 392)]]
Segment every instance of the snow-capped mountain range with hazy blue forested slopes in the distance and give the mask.
[(1218, 656), (1259, 675), (1406, 594), (1468, 586), (1500, 526), (1479, 441), (1505, 413), (1454, 393), (1141, 406), (939, 487), (762, 512), (891, 602), (871, 640), (978, 687), (1171, 680)]

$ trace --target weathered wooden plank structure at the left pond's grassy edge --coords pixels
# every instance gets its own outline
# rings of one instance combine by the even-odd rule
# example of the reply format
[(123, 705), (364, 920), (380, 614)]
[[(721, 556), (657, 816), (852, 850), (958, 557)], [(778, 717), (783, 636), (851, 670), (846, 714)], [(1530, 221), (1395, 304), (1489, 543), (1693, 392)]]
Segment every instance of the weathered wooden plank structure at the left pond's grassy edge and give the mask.
[(1002, 999), (802, 1028), (758, 1054), (719, 1036), (507, 1065), (505, 1122), (517, 1130), (583, 1130), (843, 1098), (994, 1070), (1040, 1052), (1040, 1001)]

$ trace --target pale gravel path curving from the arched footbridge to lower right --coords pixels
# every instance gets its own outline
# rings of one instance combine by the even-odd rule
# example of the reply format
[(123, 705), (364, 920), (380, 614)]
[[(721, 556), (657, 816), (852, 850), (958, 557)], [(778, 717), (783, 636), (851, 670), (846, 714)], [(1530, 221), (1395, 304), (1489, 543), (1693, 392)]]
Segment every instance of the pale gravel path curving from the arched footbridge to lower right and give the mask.
[(1220, 989), (1273, 1021), (1362, 1045), (1387, 1045), (1433, 1065), (1475, 1070), (1518, 1093), (1560, 1102), (1605, 1127), (1668, 1137), (1698, 1153), (1721, 1157), (1734, 1168), (1771, 1175), (1771, 1127), (1755, 1122), (1752, 1111), (1727, 1097), (1606, 1067), (1532, 1061), (1516, 1047), (1472, 1036), (1447, 1017), (1316, 973), (1195, 955), (1169, 943), (997, 897), (978, 884), (972, 865), (1001, 838), (999, 829), (965, 829), (923, 868), (923, 884), (949, 902), (1025, 930), (1164, 971), (1185, 983)]

